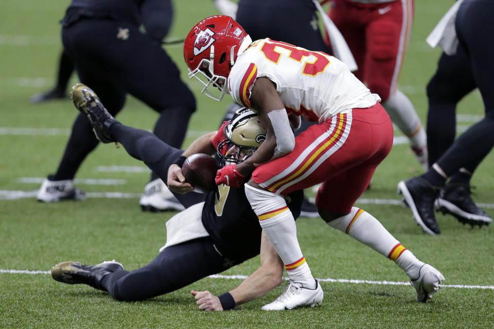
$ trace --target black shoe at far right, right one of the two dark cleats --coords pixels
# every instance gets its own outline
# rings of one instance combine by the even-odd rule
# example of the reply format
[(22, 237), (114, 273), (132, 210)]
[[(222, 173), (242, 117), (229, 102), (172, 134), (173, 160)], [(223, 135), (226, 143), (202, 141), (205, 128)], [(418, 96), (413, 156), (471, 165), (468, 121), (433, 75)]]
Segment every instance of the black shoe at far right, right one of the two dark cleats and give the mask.
[(463, 224), (489, 225), (492, 218), (484, 210), (477, 207), (470, 197), (468, 184), (448, 184), (439, 194), (436, 210), (443, 214), (451, 214)]

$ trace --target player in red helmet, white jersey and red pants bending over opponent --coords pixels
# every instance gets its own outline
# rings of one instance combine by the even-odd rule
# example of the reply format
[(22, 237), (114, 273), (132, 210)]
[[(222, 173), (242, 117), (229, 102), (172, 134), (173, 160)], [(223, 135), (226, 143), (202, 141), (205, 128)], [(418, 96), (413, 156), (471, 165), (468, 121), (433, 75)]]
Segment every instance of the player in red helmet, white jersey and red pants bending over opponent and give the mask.
[[(280, 255), (290, 285), (263, 309), (304, 305), (321, 293), (297, 241), (284, 196), (322, 183), (316, 205), (323, 220), (373, 248), (407, 273), (426, 302), (444, 276), (419, 261), (371, 214), (354, 207), (393, 143), (389, 115), (348, 67), (321, 51), (270, 39), (252, 42), (229, 16), (211, 16), (192, 28), (184, 59), (202, 93), (253, 108), (266, 140), (245, 161), (218, 171), (217, 184), (244, 185), (260, 226)], [(317, 121), (294, 137), (288, 114)], [(250, 177), (250, 178), (249, 178)]]

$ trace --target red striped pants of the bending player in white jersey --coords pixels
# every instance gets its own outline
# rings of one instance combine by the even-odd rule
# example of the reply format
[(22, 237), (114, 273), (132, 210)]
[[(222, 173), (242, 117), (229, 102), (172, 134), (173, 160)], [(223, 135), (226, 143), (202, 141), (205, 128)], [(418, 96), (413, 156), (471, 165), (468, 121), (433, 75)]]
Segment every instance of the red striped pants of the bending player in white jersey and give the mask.
[(349, 212), (392, 144), (393, 126), (380, 103), (354, 108), (310, 126), (290, 154), (259, 166), (252, 179), (282, 195), (323, 183), (317, 207)]

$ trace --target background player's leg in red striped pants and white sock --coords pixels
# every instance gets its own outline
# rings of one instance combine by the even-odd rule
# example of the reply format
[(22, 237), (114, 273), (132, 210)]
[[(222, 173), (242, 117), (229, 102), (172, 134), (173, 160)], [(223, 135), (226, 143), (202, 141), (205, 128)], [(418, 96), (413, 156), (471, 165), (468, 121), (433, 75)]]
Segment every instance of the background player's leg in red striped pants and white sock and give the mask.
[[(412, 30), (411, 0), (380, 5), (366, 30), (367, 49), (364, 81), (378, 94), (391, 120), (410, 140), (410, 145), (424, 169), (428, 167), (427, 137), (412, 102), (398, 87), (398, 78)], [(387, 12), (384, 9), (389, 8)]]

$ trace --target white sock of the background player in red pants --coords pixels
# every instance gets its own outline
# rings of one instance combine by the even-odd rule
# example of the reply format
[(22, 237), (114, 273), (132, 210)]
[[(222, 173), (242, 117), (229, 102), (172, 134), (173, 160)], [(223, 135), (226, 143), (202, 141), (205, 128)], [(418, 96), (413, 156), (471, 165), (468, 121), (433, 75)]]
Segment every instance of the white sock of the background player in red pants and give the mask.
[(382, 106), (386, 109), (387, 114), (390, 115), (391, 121), (410, 139), (412, 147), (417, 149), (426, 147), (426, 131), (420, 123), (420, 118), (412, 102), (405, 94), (400, 90), (396, 90), (396, 93), (391, 95)]

